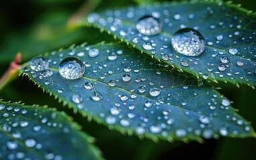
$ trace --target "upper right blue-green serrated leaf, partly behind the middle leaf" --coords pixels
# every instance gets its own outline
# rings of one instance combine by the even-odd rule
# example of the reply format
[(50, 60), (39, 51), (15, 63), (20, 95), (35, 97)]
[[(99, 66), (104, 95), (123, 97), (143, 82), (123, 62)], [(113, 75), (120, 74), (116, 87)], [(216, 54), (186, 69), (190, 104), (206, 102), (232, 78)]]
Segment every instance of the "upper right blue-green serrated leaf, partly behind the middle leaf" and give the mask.
[[(158, 27), (161, 28), (158, 34), (143, 35), (137, 31), (136, 24), (145, 16), (154, 17), (158, 21)], [(247, 84), (254, 88), (255, 22), (255, 13), (251, 14), (237, 5), (221, 1), (192, 1), (156, 3), (92, 13), (81, 23), (107, 31), (155, 59), (196, 77), (235, 85)], [(206, 45), (201, 55), (186, 56), (172, 47), (174, 33), (184, 27), (194, 28), (203, 35)], [(153, 46), (145, 49), (145, 42)], [(234, 51), (237, 54), (232, 55)], [(223, 58), (228, 60), (220, 60)]]

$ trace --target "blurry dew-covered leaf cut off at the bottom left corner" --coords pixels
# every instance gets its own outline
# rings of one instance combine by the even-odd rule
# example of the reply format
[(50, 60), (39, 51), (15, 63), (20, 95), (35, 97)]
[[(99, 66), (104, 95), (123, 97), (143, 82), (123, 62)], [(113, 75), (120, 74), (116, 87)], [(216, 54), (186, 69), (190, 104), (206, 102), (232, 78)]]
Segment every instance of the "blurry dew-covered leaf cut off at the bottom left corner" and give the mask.
[(0, 159), (101, 159), (92, 137), (54, 109), (0, 102)]

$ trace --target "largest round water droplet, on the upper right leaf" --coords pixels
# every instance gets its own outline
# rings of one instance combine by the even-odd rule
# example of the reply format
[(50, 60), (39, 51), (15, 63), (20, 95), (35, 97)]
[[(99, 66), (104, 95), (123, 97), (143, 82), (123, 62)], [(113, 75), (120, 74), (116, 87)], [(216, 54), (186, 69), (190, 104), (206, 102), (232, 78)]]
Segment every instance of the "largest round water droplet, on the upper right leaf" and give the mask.
[(201, 33), (191, 28), (180, 29), (172, 37), (172, 46), (182, 55), (200, 55), (204, 51), (204, 45)]

